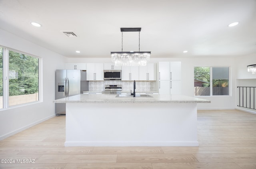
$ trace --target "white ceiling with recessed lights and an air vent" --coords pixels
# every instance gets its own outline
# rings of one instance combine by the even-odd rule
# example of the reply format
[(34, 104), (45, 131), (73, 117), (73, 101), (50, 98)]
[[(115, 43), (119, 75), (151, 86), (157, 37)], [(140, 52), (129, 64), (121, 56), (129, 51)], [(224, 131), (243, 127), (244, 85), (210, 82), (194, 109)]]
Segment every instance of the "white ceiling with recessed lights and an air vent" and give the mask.
[[(0, 28), (66, 57), (110, 57), (122, 49), (120, 28), (136, 27), (151, 58), (249, 55), (256, 0), (0, 0)], [(123, 35), (123, 51), (138, 51), (138, 32)]]

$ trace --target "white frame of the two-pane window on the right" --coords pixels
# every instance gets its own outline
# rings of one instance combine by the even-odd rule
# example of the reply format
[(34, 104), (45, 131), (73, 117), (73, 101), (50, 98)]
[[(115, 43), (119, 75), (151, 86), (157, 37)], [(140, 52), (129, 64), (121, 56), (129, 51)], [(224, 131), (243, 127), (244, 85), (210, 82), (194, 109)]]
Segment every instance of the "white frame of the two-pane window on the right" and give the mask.
[[(195, 95), (194, 93), (194, 97), (224, 97), (224, 96), (232, 96), (231, 93), (231, 67), (230, 66), (194, 66), (195, 67), (210, 67), (210, 95), (209, 96), (200, 96), (200, 95)], [(228, 67), (228, 95), (213, 95), (213, 85), (212, 85), (212, 68), (213, 67)], [(195, 86), (194, 86), (195, 87)]]

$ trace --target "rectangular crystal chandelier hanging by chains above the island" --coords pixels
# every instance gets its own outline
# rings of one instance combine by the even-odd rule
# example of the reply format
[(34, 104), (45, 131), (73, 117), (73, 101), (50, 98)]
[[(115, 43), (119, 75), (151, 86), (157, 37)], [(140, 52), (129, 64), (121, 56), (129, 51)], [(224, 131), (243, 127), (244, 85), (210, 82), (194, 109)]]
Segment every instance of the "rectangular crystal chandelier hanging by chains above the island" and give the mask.
[[(150, 59), (151, 52), (140, 51), (140, 30), (141, 28), (120, 28), (122, 32), (122, 52), (110, 52), (112, 62), (115, 66), (146, 66)], [(123, 52), (123, 32), (138, 31), (139, 32), (139, 51)]]

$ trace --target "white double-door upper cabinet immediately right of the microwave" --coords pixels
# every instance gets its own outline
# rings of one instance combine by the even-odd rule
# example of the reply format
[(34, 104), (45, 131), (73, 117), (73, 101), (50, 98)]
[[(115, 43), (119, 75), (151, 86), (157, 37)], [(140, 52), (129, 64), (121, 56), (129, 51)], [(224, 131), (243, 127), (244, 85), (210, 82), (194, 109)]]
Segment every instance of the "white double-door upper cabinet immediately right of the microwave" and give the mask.
[(122, 66), (122, 81), (138, 81), (139, 67), (138, 66)]

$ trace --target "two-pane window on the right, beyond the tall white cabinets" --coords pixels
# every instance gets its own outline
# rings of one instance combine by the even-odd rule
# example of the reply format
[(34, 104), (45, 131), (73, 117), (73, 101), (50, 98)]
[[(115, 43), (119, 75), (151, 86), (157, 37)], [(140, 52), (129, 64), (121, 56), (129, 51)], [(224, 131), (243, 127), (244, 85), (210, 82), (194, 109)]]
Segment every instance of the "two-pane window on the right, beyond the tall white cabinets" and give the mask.
[(194, 67), (194, 95), (229, 95), (229, 67)]

